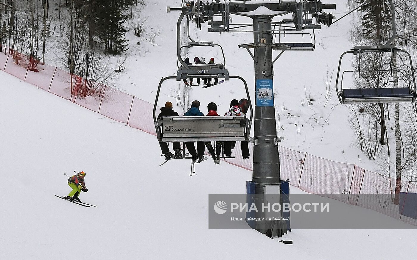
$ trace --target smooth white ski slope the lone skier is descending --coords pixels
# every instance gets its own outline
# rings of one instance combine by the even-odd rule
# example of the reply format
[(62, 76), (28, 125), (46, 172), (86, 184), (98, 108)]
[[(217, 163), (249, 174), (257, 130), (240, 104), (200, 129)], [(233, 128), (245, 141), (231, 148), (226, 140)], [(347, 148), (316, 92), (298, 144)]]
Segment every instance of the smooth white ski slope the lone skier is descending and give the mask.
[[(294, 245), (255, 230), (209, 230), (208, 194), (245, 193), (246, 170), (207, 161), (158, 167), (154, 136), (0, 72), (1, 259), (408, 259), (415, 231), (293, 230)], [(12, 87), (13, 86), (13, 87)], [(84, 170), (84, 208), (63, 172)], [(292, 193), (301, 191), (291, 187)], [(346, 205), (346, 207), (350, 207)], [(357, 208), (358, 218), (364, 209)], [(387, 223), (397, 223), (373, 213)], [(369, 216), (369, 215), (368, 215)]]

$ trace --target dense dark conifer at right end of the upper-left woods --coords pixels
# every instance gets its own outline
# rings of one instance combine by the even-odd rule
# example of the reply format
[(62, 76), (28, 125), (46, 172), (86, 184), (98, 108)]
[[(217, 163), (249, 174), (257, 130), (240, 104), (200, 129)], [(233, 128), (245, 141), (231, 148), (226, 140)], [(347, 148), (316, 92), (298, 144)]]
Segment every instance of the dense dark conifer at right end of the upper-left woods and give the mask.
[(104, 53), (116, 55), (127, 50), (125, 34), (126, 15), (122, 14), (117, 0), (100, 0), (97, 2), (95, 32), (104, 42)]

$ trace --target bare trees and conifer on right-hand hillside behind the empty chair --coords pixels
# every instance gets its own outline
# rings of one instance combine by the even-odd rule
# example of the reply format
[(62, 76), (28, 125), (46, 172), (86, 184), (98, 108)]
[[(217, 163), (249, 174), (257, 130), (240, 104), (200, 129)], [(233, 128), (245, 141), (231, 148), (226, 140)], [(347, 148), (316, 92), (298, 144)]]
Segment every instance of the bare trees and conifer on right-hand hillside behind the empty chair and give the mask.
[[(392, 35), (392, 8), (388, 0), (349, 0), (350, 7), (357, 7), (361, 15), (360, 25), (352, 29), (354, 45), (383, 45)], [(417, 48), (417, 2), (396, 0), (396, 32), (394, 45), (415, 54)], [(415, 57), (415, 55), (414, 55)], [(353, 60), (355, 67), (358, 59)], [(415, 62), (414, 62), (415, 63)], [(412, 67), (405, 57), (391, 53), (362, 53), (360, 77), (354, 79), (359, 88), (410, 87)], [(411, 82), (412, 83), (412, 82)], [(394, 124), (387, 121), (394, 115)], [(391, 117), (390, 117), (391, 115)], [(400, 117), (401, 115), (401, 117)], [(359, 140), (359, 146), (369, 159), (379, 160), (386, 169), (394, 204), (399, 203), (402, 177), (415, 180), (413, 167), (417, 165), (417, 107), (415, 104), (361, 104), (352, 109), (351, 125)], [(394, 136), (395, 160), (390, 156), (390, 135)], [(386, 149), (383, 149), (383, 148)], [(395, 182), (391, 176), (395, 176)]]

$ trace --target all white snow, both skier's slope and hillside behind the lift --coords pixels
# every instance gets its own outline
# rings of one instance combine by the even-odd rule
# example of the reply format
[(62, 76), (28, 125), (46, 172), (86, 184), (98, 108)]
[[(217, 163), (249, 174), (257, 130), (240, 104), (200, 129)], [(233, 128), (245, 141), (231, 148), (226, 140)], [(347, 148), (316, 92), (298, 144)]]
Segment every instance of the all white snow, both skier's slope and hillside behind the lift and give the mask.
[[(334, 12), (343, 15), (346, 0)], [(166, 5), (179, 0), (149, 0), (141, 7), (148, 17), (148, 33), (155, 43), (128, 32), (126, 71), (116, 87), (153, 102), (161, 77), (176, 72), (175, 25), (178, 12)], [(250, 22), (234, 18), (234, 23)], [(327, 72), (350, 49), (349, 18), (317, 34), (314, 52), (285, 52), (274, 65), (275, 103), (281, 145), (330, 160), (358, 163), (368, 170), (374, 163), (352, 145), (347, 124), (349, 106), (339, 105), (335, 92), (325, 97)], [(224, 47), (226, 68), (243, 76), (254, 94), (253, 61), (238, 44), (252, 42), (250, 33), (208, 33), (194, 29), (195, 40), (212, 40)], [(140, 42), (140, 45), (137, 45)], [(53, 45), (51, 45), (53, 46)], [(59, 62), (53, 47), (48, 63)], [(276, 54), (276, 53), (275, 53)], [(218, 49), (190, 50), (194, 56), (214, 57)], [(116, 66), (121, 57), (111, 58)], [(334, 86), (334, 72), (331, 87)], [(189, 164), (181, 160), (158, 167), (162, 159), (154, 136), (86, 110), (0, 71), (0, 259), (409, 259), (417, 250), (414, 229), (400, 230), (293, 230), (285, 238), (294, 245), (271, 240), (255, 230), (208, 229), (208, 194), (246, 193), (251, 172), (222, 163), (198, 165), (190, 178)], [(182, 85), (182, 84), (181, 84)], [(164, 84), (161, 95), (176, 104), (180, 85)], [(216, 102), (228, 109), (232, 98), (244, 97), (243, 86), (231, 81), (203, 89), (192, 87), (190, 99)], [(252, 96), (253, 98), (253, 96)], [(311, 105), (307, 99), (314, 101)], [(176, 107), (181, 113), (181, 108)], [(63, 173), (87, 173), (84, 208), (53, 196), (68, 194)], [(303, 193), (291, 187), (291, 193)], [(353, 207), (345, 205), (346, 207)], [(379, 213), (355, 208), (387, 225), (406, 224)]]

